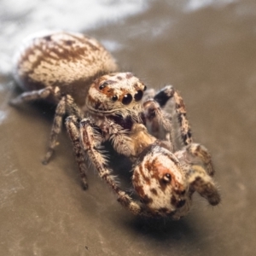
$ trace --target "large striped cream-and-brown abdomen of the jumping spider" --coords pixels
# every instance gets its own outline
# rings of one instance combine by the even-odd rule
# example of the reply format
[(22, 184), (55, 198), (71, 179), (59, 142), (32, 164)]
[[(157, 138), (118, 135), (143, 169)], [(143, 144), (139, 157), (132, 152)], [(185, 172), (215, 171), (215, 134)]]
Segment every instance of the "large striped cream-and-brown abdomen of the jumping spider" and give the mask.
[(15, 54), (15, 80), (23, 90), (59, 86), (84, 105), (91, 82), (117, 68), (94, 38), (71, 32), (41, 32), (27, 38)]

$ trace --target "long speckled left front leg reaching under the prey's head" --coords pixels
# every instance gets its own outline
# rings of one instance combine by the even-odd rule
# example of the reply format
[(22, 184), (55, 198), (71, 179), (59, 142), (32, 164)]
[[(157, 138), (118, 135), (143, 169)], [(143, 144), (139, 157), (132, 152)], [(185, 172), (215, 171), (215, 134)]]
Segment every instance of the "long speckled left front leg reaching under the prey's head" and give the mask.
[(80, 122), (80, 142), (84, 152), (89, 156), (89, 159), (99, 176), (108, 183), (109, 187), (118, 196), (119, 203), (135, 215), (150, 216), (139, 203), (133, 201), (124, 190), (119, 188), (119, 185), (114, 180), (111, 170), (108, 169), (108, 161), (101, 152), (101, 134), (96, 131), (95, 125), (90, 119), (83, 119)]

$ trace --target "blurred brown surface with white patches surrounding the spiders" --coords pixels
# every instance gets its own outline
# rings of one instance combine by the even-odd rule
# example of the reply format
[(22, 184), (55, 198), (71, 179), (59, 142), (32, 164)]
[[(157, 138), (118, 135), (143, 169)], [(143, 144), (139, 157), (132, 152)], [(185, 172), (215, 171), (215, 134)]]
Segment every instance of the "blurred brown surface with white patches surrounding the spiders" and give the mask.
[[(256, 2), (0, 1), (1, 255), (255, 255)], [(120, 207), (96, 173), (90, 189), (65, 131), (43, 166), (53, 109), (11, 108), (11, 57), (32, 32), (61, 28), (97, 38), (148, 87), (173, 84), (195, 141), (212, 153), (218, 207), (195, 196), (180, 221)], [(127, 167), (118, 163), (119, 177)]]

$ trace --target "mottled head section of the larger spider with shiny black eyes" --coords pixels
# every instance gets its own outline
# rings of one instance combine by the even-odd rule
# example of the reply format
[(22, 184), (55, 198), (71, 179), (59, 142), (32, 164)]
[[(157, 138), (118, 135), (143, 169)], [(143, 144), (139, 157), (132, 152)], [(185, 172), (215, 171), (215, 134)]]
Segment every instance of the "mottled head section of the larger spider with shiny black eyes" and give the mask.
[(96, 115), (138, 119), (146, 86), (132, 73), (110, 73), (96, 79), (86, 96), (86, 108)]

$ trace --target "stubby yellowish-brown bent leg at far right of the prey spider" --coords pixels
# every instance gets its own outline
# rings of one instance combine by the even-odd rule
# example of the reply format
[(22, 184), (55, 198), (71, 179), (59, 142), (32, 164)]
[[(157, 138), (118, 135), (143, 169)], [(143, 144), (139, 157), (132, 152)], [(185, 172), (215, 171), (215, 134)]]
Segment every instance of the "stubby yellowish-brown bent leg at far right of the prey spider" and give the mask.
[(212, 177), (207, 175), (207, 172), (202, 166), (190, 166), (189, 172), (187, 172), (187, 178), (190, 184), (189, 189), (191, 194), (197, 191), (212, 206), (218, 205), (220, 202), (218, 189), (215, 183), (213, 183)]

